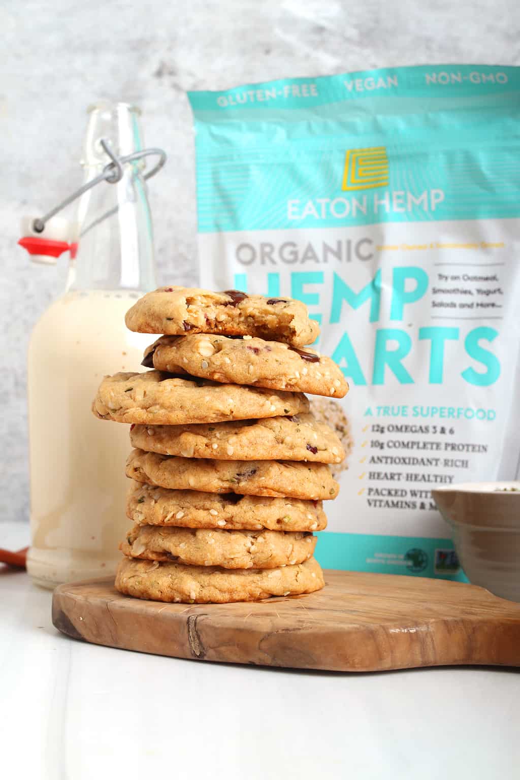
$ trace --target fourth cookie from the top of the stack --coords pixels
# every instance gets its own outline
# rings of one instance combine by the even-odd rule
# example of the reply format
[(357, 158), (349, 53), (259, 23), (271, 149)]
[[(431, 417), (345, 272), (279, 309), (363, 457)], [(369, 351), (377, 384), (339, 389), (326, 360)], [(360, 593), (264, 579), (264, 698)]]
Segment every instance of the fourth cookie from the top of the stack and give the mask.
[(340, 463), (345, 457), (334, 431), (305, 413), (211, 425), (135, 425), (130, 441), (146, 452), (183, 458)]

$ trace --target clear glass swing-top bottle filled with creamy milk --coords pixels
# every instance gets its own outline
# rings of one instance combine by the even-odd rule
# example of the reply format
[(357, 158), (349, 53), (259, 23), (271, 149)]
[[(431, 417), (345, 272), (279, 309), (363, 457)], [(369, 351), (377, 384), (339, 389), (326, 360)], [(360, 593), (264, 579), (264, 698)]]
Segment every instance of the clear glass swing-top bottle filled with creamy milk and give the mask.
[[(137, 108), (100, 102), (90, 117), (82, 165), (87, 180), (142, 148)], [(143, 161), (118, 183), (80, 198), (80, 236), (65, 293), (37, 322), (29, 345), (31, 546), (35, 583), (111, 575), (127, 530), (128, 426), (97, 420), (92, 401), (104, 374), (139, 371), (150, 336), (126, 329), (126, 310), (156, 286)], [(142, 369), (141, 369), (142, 370)]]

